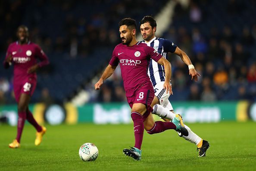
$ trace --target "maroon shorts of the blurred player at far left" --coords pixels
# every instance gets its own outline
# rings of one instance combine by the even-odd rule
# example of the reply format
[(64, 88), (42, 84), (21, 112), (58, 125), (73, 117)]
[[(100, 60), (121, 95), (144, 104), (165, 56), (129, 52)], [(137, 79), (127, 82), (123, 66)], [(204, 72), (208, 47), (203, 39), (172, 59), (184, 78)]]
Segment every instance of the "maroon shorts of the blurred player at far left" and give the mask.
[(25, 78), (23, 81), (13, 81), (13, 90), (16, 102), (19, 102), (19, 97), (22, 93), (32, 96), (37, 85), (35, 78)]

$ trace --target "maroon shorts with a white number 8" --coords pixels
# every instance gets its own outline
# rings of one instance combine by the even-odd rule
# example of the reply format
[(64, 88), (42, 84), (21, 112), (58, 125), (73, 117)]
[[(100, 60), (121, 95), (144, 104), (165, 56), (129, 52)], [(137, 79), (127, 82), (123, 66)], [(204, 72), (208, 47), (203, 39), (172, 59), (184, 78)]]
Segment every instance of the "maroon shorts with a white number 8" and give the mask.
[(152, 107), (150, 106), (155, 93), (153, 89), (153, 85), (151, 82), (145, 83), (140, 86), (136, 91), (134, 91), (133, 96), (126, 96), (129, 106), (132, 108), (134, 103), (142, 103), (146, 105), (147, 111), (144, 113), (143, 121), (148, 117), (150, 112), (153, 111)]

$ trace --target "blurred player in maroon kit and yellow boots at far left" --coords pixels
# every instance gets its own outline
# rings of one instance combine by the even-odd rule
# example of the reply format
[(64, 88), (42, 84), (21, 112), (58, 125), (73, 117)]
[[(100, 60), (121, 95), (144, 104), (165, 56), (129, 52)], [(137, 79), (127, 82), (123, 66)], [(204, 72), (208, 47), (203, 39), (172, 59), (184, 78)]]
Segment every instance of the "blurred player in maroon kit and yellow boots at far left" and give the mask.
[[(10, 148), (19, 148), (22, 130), (27, 119), (37, 130), (35, 145), (38, 146), (42, 141), (42, 136), (46, 128), (40, 126), (35, 121), (31, 111), (28, 109), (30, 97), (33, 95), (36, 84), (36, 71), (49, 63), (43, 50), (28, 40), (28, 28), (25, 25), (19, 26), (17, 30), (18, 41), (9, 45), (6, 58), (3, 62), (5, 68), (14, 65), (13, 89), (16, 102), (18, 103), (18, 125), (17, 137), (9, 144)], [(41, 62), (37, 63), (37, 59)]]

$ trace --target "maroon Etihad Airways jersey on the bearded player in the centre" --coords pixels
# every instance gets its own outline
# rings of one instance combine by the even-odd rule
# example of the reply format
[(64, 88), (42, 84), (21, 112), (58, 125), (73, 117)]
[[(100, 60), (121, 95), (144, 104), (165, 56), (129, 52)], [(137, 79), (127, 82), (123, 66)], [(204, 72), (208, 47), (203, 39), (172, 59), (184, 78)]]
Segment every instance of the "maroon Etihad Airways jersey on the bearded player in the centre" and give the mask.
[(114, 49), (109, 64), (117, 66), (120, 63), (126, 96), (133, 96), (134, 90), (137, 90), (142, 84), (150, 82), (147, 75), (150, 58), (157, 62), (161, 57), (147, 44), (138, 42), (131, 47), (119, 44)]

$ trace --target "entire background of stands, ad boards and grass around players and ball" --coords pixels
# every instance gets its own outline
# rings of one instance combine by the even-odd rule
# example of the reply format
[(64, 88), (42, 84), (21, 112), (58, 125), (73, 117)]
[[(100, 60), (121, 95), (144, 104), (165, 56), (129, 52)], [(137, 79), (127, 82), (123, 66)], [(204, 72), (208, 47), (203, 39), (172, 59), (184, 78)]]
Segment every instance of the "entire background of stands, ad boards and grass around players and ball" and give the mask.
[[(145, 132), (140, 162), (123, 156), (134, 133), (120, 68), (94, 90), (121, 43), (119, 21), (131, 17), (139, 28), (147, 15), (156, 19), (156, 36), (177, 44), (201, 75), (191, 81), (180, 57), (168, 55), (169, 100), (209, 141), (206, 158), (175, 131)], [(256, 170), (255, 16), (255, 0), (0, 0), (0, 63), (19, 25), (28, 26), (50, 60), (37, 72), (29, 105), (47, 133), (34, 146), (34, 127), (25, 124), (20, 149), (8, 148), (18, 116), (13, 67), (0, 65), (0, 170)], [(99, 149), (95, 162), (78, 156), (87, 142)]]

